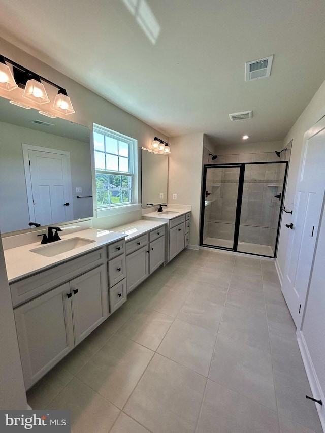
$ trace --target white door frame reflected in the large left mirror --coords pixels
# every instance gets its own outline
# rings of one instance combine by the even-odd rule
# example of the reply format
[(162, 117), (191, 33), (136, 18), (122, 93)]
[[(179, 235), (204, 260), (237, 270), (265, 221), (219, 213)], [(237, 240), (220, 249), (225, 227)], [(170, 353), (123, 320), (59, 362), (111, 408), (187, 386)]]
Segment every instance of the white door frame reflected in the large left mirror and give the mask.
[(31, 144), (21, 144), (22, 146), (22, 157), (23, 157), (23, 163), (24, 163), (24, 171), (25, 171), (25, 180), (26, 180), (26, 191), (27, 191), (27, 204), (28, 204), (28, 211), (29, 211), (29, 221), (35, 221), (35, 211), (34, 211), (34, 205), (33, 205), (33, 195), (32, 195), (32, 187), (31, 187), (31, 176), (30, 176), (30, 169), (29, 169), (29, 155), (28, 150), (35, 150), (39, 152), (47, 152), (47, 153), (54, 153), (56, 155), (64, 155), (67, 157), (68, 162), (68, 187), (70, 191), (70, 202), (72, 202), (72, 180), (71, 180), (71, 165), (70, 165), (70, 152), (66, 150), (60, 150), (60, 149), (51, 149), (49, 147), (42, 147), (42, 146), (34, 146)]

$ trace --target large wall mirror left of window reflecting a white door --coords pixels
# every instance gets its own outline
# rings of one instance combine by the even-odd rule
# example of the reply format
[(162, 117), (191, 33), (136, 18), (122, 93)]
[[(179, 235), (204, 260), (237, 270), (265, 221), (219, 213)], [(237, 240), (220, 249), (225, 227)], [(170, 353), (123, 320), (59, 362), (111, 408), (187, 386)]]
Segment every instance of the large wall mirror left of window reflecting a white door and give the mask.
[(1, 232), (91, 216), (89, 128), (0, 98)]

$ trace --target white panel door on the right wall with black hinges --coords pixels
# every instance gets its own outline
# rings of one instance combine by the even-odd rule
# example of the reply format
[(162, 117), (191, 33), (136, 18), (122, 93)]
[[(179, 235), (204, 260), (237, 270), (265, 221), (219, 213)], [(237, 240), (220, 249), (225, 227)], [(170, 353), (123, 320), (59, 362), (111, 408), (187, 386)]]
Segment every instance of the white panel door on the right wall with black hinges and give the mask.
[(282, 292), (300, 327), (325, 191), (325, 124), (306, 136)]

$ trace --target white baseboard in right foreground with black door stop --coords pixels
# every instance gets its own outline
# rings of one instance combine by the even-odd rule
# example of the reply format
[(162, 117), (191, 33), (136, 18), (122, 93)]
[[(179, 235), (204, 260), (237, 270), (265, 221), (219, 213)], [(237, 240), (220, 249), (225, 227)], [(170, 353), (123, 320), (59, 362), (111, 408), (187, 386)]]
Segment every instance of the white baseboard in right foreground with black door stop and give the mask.
[(325, 432), (324, 393), (320, 387), (320, 383), (306, 344), (306, 340), (304, 338), (304, 335), (302, 334), (302, 331), (300, 330), (297, 331), (297, 341), (298, 341), (301, 357), (303, 359), (304, 367), (306, 370), (306, 374), (307, 374), (307, 378), (308, 378), (308, 382), (310, 385), (313, 398), (316, 398), (317, 400), (321, 400), (323, 402), (322, 406), (320, 406), (318, 403), (315, 403), (315, 407), (319, 416), (321, 427)]

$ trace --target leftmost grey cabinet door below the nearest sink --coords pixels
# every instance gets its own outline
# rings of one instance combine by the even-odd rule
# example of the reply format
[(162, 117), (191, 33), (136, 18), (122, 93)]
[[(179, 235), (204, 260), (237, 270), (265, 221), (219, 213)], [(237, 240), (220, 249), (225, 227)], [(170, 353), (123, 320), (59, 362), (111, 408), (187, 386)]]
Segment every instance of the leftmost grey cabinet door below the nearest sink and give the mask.
[(14, 310), (26, 389), (74, 348), (69, 283)]

